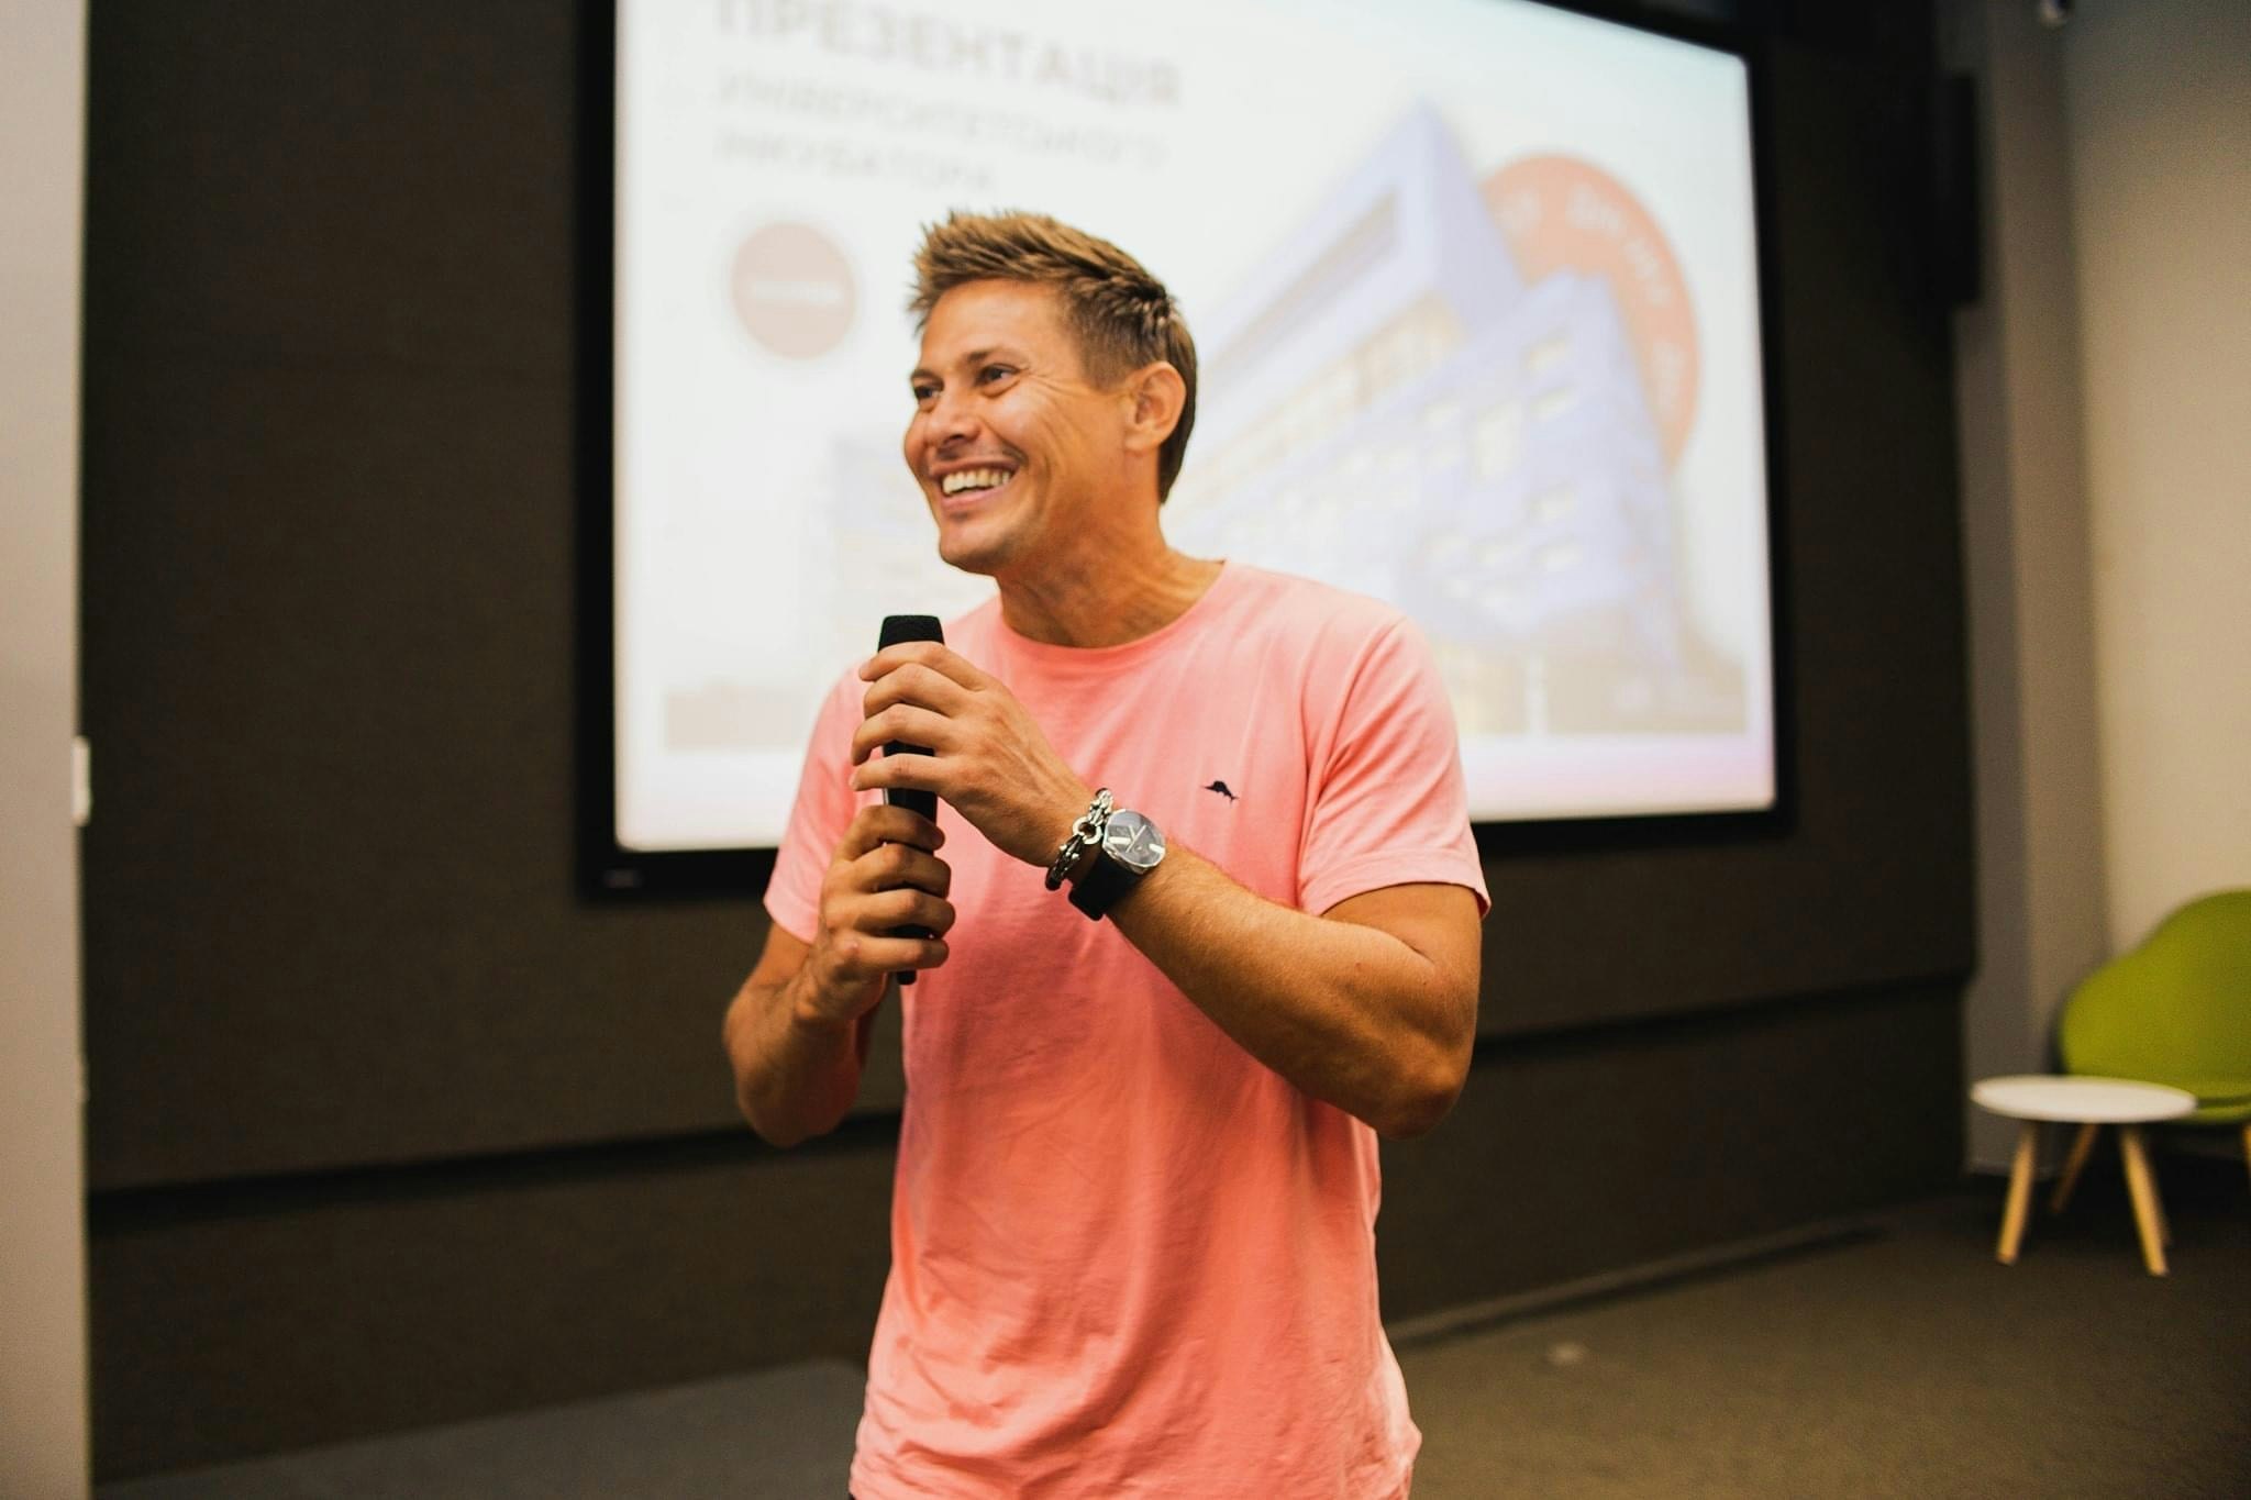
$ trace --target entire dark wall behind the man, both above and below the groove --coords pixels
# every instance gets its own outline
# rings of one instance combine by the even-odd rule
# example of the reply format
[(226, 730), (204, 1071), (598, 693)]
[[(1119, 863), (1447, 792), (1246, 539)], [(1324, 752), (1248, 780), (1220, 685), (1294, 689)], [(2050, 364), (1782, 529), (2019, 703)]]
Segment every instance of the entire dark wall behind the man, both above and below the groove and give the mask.
[[(777, 1156), (752, 902), (572, 888), (563, 7), (92, 13), (83, 717), (104, 1475), (858, 1354), (898, 1100)], [(1958, 1160), (1970, 816), (1918, 58), (1772, 52), (1796, 819), (1488, 855), (1387, 1309)], [(1904, 81), (1904, 85), (1902, 85)]]

